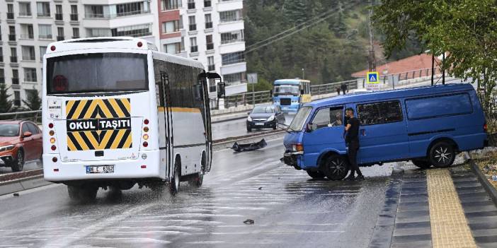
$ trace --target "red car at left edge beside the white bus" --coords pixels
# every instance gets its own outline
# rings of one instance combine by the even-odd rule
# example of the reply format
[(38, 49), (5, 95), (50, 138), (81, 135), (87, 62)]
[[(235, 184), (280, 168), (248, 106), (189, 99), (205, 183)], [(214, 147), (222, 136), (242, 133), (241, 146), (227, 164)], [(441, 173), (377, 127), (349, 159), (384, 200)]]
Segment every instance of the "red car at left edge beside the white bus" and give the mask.
[(0, 167), (23, 170), (24, 163), (42, 159), (42, 133), (28, 121), (0, 121)]

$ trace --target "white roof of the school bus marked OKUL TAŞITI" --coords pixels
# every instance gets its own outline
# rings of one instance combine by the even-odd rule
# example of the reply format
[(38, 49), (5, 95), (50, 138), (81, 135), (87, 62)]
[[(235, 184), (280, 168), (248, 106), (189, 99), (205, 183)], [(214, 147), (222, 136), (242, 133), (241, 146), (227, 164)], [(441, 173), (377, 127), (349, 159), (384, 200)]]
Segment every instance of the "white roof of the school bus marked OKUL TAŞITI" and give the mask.
[[(138, 43), (142, 42), (141, 47)], [(52, 50), (52, 46), (55, 50)], [(154, 51), (154, 58), (168, 61), (174, 64), (183, 64), (185, 66), (198, 67), (204, 69), (202, 63), (193, 59), (186, 59), (164, 52), (158, 52), (157, 47), (147, 40), (135, 37), (91, 37), (72, 40), (62, 40), (59, 42), (52, 42), (47, 47), (47, 54), (56, 54), (58, 52), (69, 52), (81, 49), (139, 49), (139, 50), (152, 50)]]

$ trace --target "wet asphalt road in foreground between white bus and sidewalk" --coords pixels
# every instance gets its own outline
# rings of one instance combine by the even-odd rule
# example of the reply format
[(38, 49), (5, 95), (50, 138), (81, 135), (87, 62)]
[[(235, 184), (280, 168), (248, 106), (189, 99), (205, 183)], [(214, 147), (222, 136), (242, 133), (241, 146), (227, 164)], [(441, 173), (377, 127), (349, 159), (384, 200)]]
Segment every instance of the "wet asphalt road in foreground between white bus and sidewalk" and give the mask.
[(101, 190), (76, 205), (58, 184), (0, 196), (0, 247), (367, 247), (392, 165), (364, 168), (364, 182), (332, 182), (281, 155), (281, 138), (220, 150), (204, 185), (182, 182), (177, 196)]

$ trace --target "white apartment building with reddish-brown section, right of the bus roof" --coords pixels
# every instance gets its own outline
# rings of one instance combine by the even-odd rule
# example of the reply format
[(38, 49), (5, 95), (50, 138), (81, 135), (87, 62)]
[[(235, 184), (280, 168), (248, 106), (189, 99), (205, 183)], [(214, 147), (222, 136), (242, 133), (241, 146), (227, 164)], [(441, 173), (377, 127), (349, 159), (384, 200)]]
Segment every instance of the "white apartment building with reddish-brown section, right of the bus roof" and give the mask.
[[(227, 84), (227, 95), (246, 92), (242, 0), (159, 0), (162, 52), (196, 59)], [(210, 85), (215, 91), (215, 85)]]

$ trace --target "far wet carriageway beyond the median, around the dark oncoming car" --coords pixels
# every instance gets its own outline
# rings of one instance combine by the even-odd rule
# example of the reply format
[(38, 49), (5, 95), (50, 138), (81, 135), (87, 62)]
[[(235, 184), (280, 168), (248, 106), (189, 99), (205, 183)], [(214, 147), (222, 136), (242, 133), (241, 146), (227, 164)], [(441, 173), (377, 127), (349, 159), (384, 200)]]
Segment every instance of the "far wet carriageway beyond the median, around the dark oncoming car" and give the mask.
[[(295, 114), (285, 114), (285, 124), (290, 125), (293, 117), (295, 117)], [(243, 136), (268, 130), (272, 129), (252, 129), (251, 132), (248, 132), (246, 127), (246, 118), (235, 119), (228, 122), (218, 122), (212, 124), (212, 139), (217, 140), (221, 138)]]

